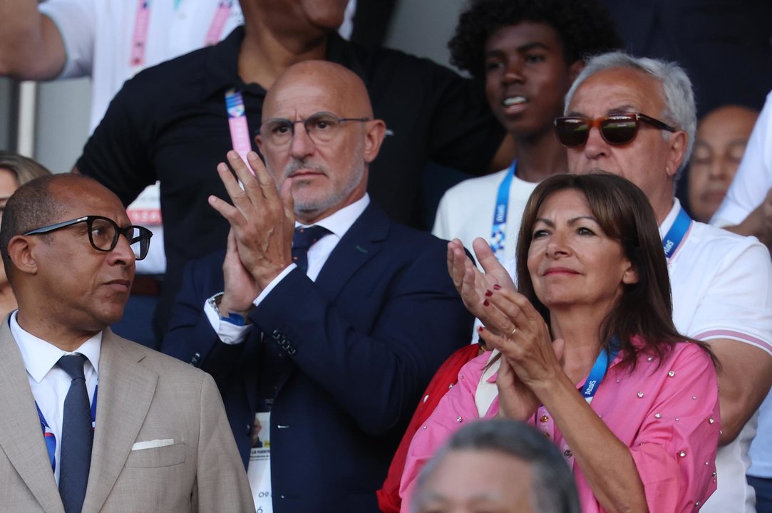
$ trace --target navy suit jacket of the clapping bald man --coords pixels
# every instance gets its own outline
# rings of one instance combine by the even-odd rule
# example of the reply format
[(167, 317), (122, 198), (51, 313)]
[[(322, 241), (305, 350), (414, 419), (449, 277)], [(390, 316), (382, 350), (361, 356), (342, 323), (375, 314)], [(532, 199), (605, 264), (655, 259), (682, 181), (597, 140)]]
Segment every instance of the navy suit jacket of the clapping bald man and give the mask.
[(469, 343), (472, 316), (448, 275), (444, 241), (370, 204), (316, 282), (289, 272), (249, 313), (245, 343), (218, 340), (203, 313), (223, 289), (224, 251), (191, 262), (164, 353), (212, 373), (248, 460), (260, 345), (289, 359), (271, 410), (276, 513), (378, 511), (375, 491), (428, 381)]

